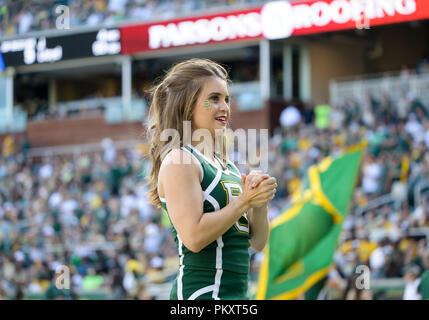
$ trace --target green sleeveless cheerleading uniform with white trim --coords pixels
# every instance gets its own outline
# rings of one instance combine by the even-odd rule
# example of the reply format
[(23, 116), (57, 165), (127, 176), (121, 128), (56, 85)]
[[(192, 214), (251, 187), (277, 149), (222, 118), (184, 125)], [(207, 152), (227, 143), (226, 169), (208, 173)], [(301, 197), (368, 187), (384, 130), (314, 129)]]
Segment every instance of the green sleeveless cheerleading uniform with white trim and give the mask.
[[(200, 164), (204, 213), (222, 209), (240, 195), (241, 175), (231, 161), (226, 170), (220, 170), (192, 145), (182, 149)], [(165, 199), (160, 200), (167, 211)], [(248, 299), (250, 235), (246, 215), (243, 212), (234, 225), (198, 253), (186, 248), (172, 227), (179, 252), (179, 272), (171, 300)]]

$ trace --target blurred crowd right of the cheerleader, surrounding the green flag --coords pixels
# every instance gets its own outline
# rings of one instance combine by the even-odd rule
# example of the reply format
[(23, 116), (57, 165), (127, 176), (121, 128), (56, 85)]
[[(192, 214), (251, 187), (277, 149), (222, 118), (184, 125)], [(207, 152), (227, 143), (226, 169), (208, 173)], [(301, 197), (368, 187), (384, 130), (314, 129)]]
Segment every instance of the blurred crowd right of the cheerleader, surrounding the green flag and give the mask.
[[(403, 278), (404, 299), (421, 298), (417, 284), (424, 278), (428, 299), (429, 185), (418, 188), (429, 181), (427, 106), (411, 93), (399, 101), (368, 93), (362, 101), (349, 99), (340, 106), (290, 105), (280, 124), (270, 146), (270, 174), (279, 181), (280, 198), (293, 196), (309, 166), (345, 146), (368, 141), (335, 254), (335, 272), (329, 276), (339, 281), (327, 281), (327, 286), (336, 283), (333, 288), (344, 291), (344, 298), (356, 296), (350, 283), (356, 268), (367, 266), (373, 279)], [(270, 214), (275, 217), (281, 209), (272, 206)]]

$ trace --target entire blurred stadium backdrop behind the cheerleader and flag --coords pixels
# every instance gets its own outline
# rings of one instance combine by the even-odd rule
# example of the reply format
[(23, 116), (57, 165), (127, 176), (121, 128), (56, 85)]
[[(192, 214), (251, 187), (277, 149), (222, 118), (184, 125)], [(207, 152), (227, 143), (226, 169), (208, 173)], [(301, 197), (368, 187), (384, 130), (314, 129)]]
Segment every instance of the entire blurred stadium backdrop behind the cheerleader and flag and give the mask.
[[(365, 15), (320, 0), (270, 16), (258, 0), (0, 0), (0, 298), (168, 297), (178, 259), (146, 202), (142, 133), (147, 89), (191, 57), (230, 68), (232, 129), (269, 129), (271, 218), (310, 165), (368, 140), (325, 298), (353, 298), (359, 264), (369, 298), (415, 297), (428, 268), (429, 6), (366, 2)], [(262, 259), (252, 252), (252, 293)], [(71, 290), (54, 286), (59, 265)]]

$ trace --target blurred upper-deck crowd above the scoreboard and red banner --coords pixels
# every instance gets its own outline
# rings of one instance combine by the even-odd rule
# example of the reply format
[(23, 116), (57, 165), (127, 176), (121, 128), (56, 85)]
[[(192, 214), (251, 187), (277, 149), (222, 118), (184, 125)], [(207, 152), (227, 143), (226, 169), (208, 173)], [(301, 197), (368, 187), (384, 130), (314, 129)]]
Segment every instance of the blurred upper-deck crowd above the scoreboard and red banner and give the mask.
[(70, 27), (111, 25), (125, 20), (148, 21), (189, 15), (262, 0), (0, 0), (0, 37), (55, 29), (56, 19), (68, 7)]

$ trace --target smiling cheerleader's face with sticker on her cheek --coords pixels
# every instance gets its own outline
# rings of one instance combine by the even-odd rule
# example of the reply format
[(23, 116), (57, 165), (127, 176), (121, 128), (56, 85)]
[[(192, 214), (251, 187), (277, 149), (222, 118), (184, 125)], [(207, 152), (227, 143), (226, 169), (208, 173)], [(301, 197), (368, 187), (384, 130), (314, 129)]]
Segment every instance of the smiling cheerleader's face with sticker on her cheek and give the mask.
[(215, 130), (225, 130), (230, 118), (229, 93), (225, 80), (209, 77), (194, 106), (192, 128), (207, 129), (214, 138)]

